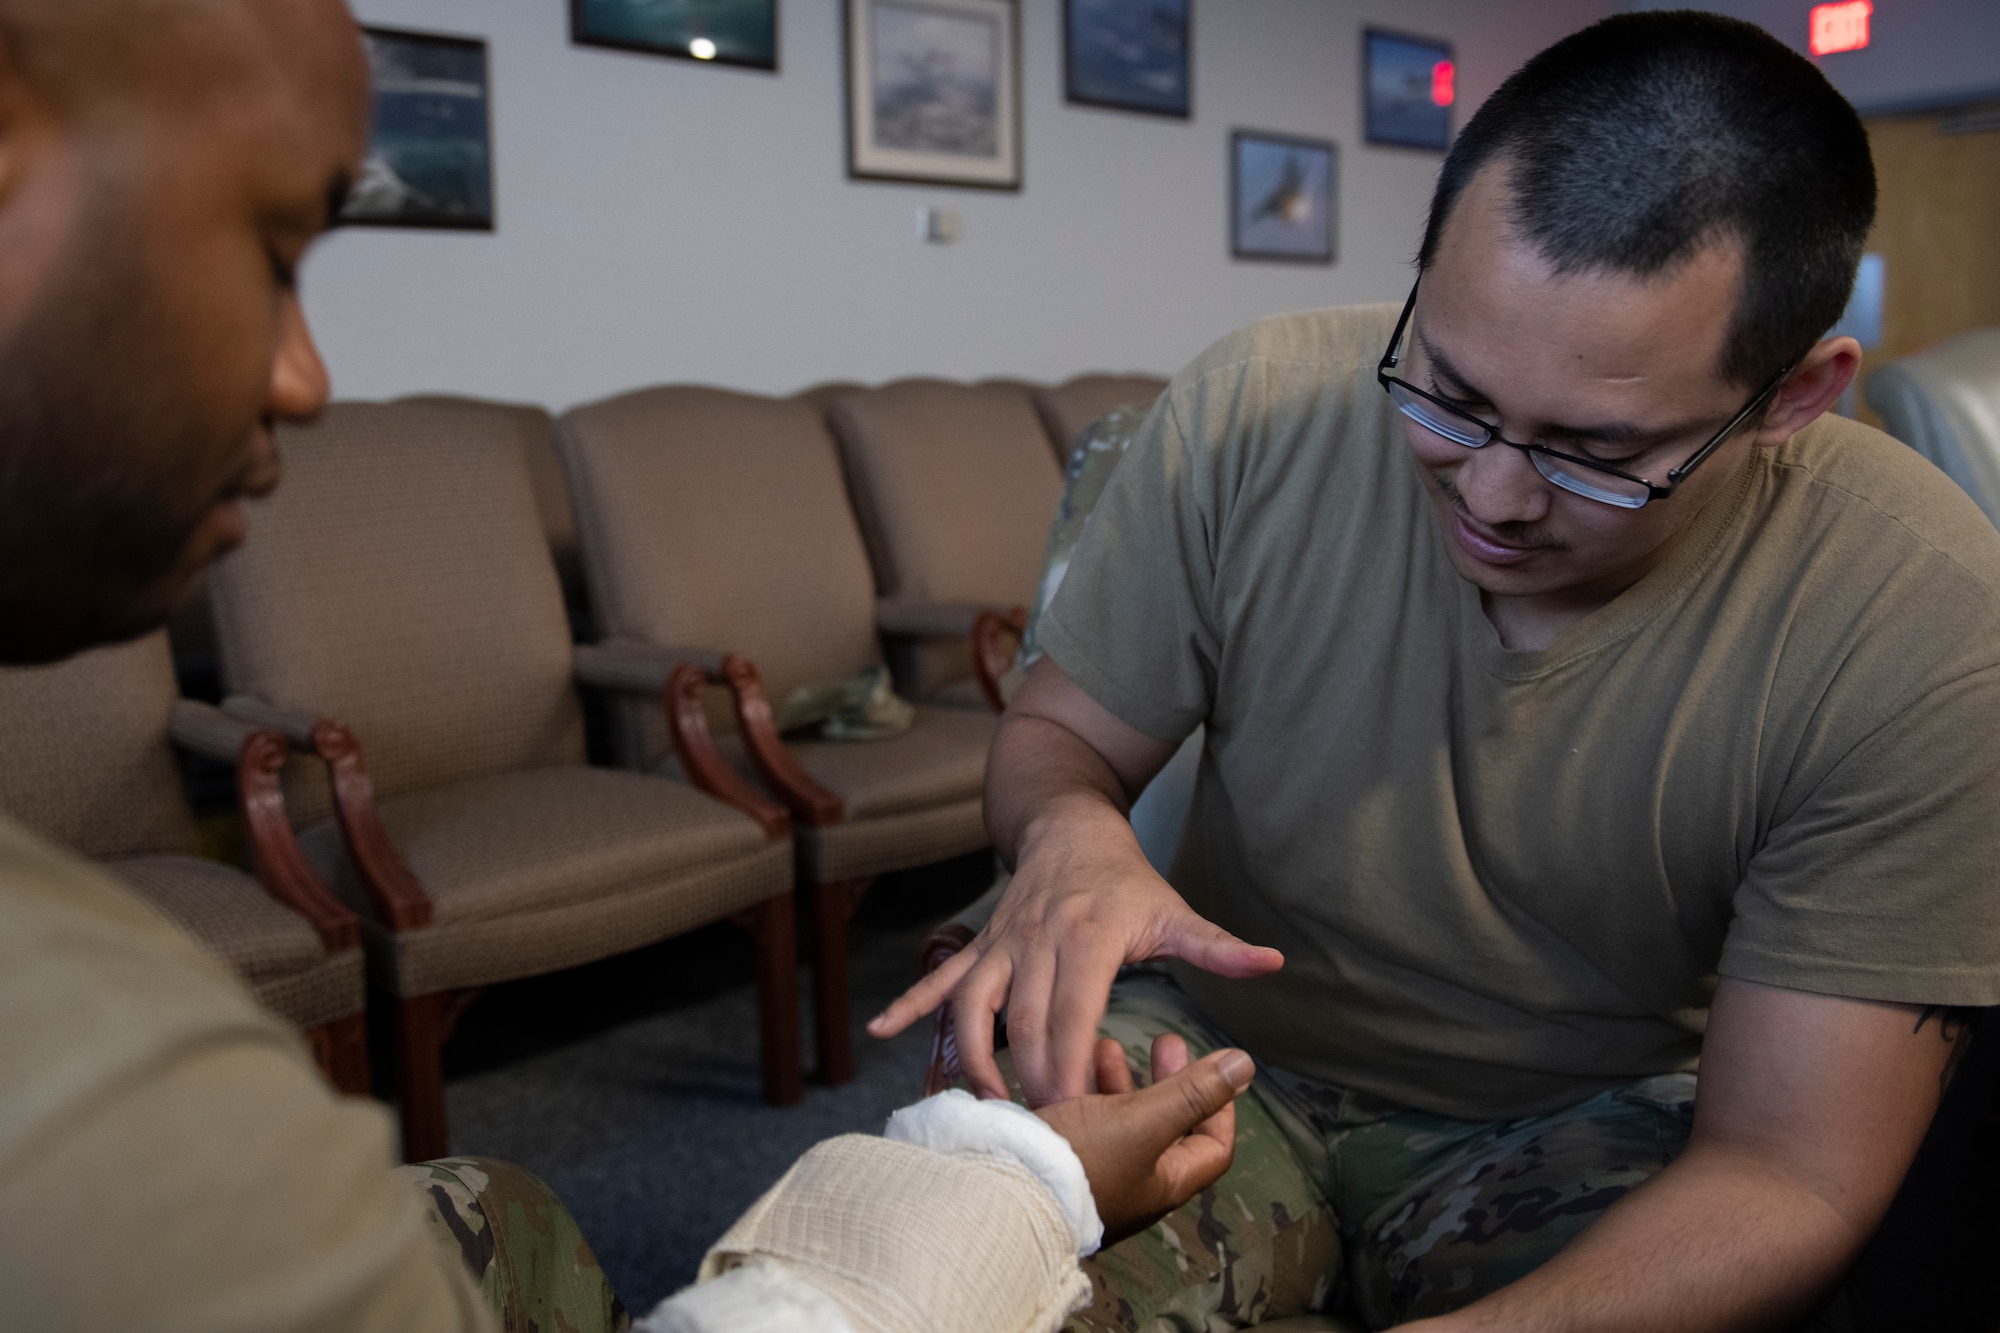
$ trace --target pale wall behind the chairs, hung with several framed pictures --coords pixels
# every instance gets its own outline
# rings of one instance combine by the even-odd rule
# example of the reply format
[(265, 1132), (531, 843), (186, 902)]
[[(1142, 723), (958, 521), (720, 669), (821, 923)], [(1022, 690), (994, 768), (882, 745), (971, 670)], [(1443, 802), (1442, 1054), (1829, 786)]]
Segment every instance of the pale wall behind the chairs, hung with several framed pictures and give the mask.
[[(1360, 30), (1458, 46), (1458, 124), (1614, 0), (1196, 0), (1194, 120), (1062, 102), (1060, 0), (1020, 0), (1026, 188), (854, 182), (838, 0), (782, 0), (780, 72), (576, 48), (558, 0), (356, 0), (490, 42), (498, 232), (346, 230), (306, 264), (342, 396), (568, 406), (668, 380), (1170, 372), (1276, 310), (1394, 300), (1438, 154), (1360, 142)], [(1232, 128), (1334, 138), (1332, 268), (1228, 258)], [(964, 218), (914, 236), (918, 204)]]

